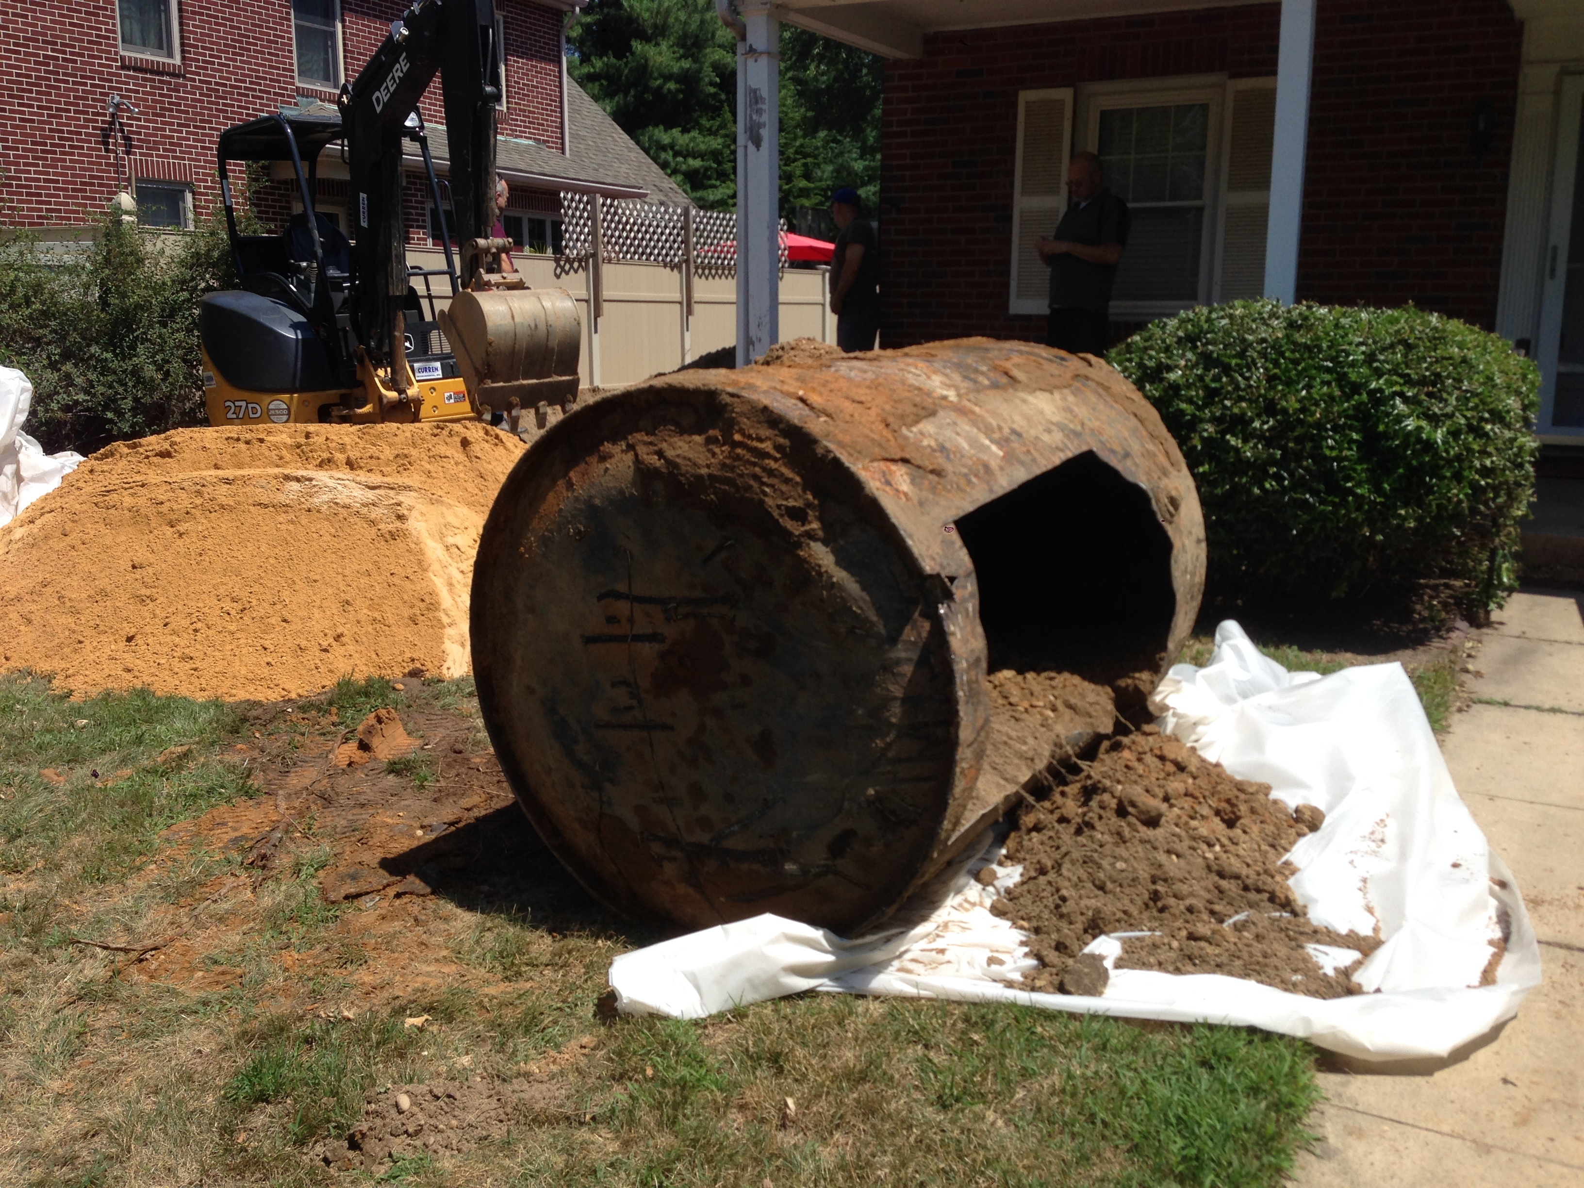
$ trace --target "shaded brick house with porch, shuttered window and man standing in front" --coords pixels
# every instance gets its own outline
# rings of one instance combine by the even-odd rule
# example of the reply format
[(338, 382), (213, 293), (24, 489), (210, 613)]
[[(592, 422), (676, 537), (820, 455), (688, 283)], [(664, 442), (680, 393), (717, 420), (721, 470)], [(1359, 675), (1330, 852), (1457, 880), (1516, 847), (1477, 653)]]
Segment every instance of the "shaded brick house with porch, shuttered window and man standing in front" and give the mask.
[(1041, 337), (1033, 241), (1093, 149), (1134, 212), (1117, 334), (1262, 293), (1411, 301), (1532, 353), (1541, 437), (1584, 444), (1581, 0), (779, 11), (889, 59), (884, 342)]

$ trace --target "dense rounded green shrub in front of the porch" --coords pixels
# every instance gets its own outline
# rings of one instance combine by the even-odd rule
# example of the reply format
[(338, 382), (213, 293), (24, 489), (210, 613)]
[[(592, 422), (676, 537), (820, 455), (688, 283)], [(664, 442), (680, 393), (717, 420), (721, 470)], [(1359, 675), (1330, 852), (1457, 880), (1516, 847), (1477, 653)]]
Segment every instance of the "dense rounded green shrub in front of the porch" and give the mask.
[(1110, 352), (1204, 504), (1218, 597), (1408, 599), (1483, 616), (1516, 586), (1540, 374), (1419, 309), (1237, 301)]

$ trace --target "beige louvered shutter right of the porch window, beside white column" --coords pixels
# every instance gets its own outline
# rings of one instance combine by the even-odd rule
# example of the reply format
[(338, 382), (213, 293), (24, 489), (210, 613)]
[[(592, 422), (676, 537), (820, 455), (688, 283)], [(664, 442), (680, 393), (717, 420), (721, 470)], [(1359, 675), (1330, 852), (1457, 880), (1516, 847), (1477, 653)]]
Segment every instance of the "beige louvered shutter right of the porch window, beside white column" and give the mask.
[(1266, 223), (1270, 217), (1270, 149), (1277, 81), (1228, 84), (1226, 152), (1221, 166), (1221, 227), (1215, 301), (1258, 298), (1266, 288)]

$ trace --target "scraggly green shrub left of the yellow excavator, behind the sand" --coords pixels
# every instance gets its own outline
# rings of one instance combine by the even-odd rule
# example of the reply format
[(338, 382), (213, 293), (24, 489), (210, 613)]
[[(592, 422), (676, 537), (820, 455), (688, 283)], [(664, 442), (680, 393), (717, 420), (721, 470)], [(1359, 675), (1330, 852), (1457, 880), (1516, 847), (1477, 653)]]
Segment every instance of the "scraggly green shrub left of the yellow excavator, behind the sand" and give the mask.
[(87, 244), (0, 244), (0, 363), (33, 382), (27, 431), (92, 453), (204, 420), (198, 299), (234, 285), (219, 208), (188, 233), (109, 217)]

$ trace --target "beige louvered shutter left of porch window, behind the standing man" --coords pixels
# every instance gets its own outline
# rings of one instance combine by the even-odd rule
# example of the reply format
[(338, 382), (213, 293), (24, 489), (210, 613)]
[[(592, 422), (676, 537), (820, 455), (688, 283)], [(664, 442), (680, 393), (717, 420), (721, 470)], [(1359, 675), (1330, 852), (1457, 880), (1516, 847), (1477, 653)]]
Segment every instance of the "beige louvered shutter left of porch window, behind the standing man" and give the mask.
[(1055, 234), (1068, 209), (1072, 155), (1072, 87), (1025, 90), (1017, 97), (1017, 171), (1012, 184), (1012, 314), (1050, 307), (1050, 269), (1034, 241)]

